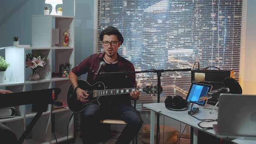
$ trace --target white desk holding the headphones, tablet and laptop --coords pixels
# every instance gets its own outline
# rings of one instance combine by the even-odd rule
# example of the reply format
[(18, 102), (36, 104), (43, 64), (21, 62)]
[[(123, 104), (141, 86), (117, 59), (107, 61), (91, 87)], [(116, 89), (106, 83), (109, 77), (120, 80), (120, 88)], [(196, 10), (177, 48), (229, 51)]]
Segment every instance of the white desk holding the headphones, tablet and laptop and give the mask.
[[(155, 112), (165, 115), (169, 118), (172, 118), (177, 121), (181, 121), (184, 124), (187, 124), (191, 127), (190, 133), (193, 134), (193, 144), (197, 144), (197, 134), (198, 130), (203, 131), (207, 134), (211, 134), (215, 136), (214, 130), (203, 130), (200, 128), (197, 124), (200, 122), (196, 118), (191, 117), (187, 114), (187, 111), (171, 111), (165, 108), (164, 103), (152, 103), (152, 104), (144, 104), (144, 107), (151, 110), (150, 113), (150, 144), (154, 144), (154, 125), (155, 125)], [(212, 105), (209, 105), (210, 107), (213, 107)], [(210, 111), (203, 111), (200, 110), (200, 112), (197, 115), (194, 115), (195, 117), (199, 119), (217, 119), (218, 113), (213, 111), (212, 114), (210, 114)], [(205, 122), (201, 124), (203, 127), (212, 127), (212, 124), (217, 124), (217, 121), (214, 122)], [(250, 140), (233, 140), (233, 142), (237, 144), (256, 144), (256, 141), (250, 141)]]

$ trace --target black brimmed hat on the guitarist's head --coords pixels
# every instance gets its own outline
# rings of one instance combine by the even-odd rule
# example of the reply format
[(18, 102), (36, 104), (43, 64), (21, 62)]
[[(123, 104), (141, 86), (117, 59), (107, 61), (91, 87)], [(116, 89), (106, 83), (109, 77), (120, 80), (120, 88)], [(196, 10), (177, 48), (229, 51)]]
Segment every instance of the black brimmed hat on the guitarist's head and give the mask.
[(108, 26), (106, 29), (102, 30), (102, 32), (99, 34), (99, 40), (101, 42), (103, 41), (104, 35), (116, 35), (118, 38), (118, 41), (121, 42), (121, 44), (124, 42), (124, 38), (122, 34), (114, 26)]

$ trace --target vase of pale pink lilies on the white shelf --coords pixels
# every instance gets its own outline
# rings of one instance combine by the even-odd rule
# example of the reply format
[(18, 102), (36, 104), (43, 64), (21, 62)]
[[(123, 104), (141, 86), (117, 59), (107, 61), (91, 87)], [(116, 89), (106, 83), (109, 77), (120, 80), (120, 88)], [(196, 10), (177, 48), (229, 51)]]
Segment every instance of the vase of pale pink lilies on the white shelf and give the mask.
[(33, 55), (32, 53), (28, 53), (26, 55), (26, 68), (30, 67), (32, 69), (32, 74), (29, 76), (31, 81), (37, 81), (40, 79), (40, 75), (37, 73), (37, 69), (43, 68), (46, 65), (44, 61), (45, 56)]

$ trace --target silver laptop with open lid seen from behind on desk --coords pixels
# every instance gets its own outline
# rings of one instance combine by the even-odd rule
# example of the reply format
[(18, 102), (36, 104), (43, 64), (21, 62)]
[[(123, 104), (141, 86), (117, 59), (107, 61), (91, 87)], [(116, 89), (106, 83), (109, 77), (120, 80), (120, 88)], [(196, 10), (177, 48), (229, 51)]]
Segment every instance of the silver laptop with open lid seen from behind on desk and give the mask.
[(217, 137), (256, 140), (256, 95), (220, 94)]

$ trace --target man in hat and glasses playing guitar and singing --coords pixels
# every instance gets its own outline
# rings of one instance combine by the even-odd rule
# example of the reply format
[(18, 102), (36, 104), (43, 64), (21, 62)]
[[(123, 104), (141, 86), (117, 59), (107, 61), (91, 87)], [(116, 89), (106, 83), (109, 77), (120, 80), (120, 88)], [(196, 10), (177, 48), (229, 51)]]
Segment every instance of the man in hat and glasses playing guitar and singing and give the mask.
[[(106, 89), (116, 88), (134, 88), (135, 74), (117, 74), (117, 75), (96, 75), (95, 72), (99, 67), (99, 63), (104, 61), (106, 65), (102, 72), (121, 72), (135, 71), (131, 62), (121, 57), (117, 50), (121, 46), (124, 39), (121, 33), (113, 26), (104, 29), (99, 39), (102, 42), (104, 52), (94, 54), (84, 59), (79, 65), (75, 66), (69, 72), (69, 80), (74, 88), (77, 98), (82, 102), (88, 102), (89, 94), (79, 88), (78, 76), (88, 72), (87, 82), (90, 85), (95, 82), (103, 82)], [(129, 144), (133, 137), (138, 134), (142, 126), (142, 119), (138, 111), (131, 105), (131, 99), (137, 99), (140, 95), (138, 90), (124, 95), (113, 95), (111, 97), (101, 97), (100, 104), (90, 104), (82, 112), (81, 136), (83, 144), (94, 144), (97, 140), (98, 125), (100, 120), (121, 119), (127, 125), (123, 129), (116, 144)]]

